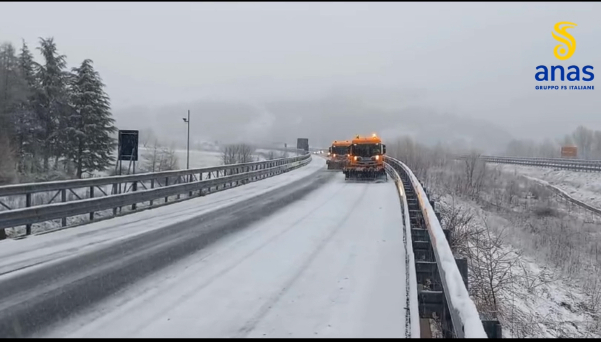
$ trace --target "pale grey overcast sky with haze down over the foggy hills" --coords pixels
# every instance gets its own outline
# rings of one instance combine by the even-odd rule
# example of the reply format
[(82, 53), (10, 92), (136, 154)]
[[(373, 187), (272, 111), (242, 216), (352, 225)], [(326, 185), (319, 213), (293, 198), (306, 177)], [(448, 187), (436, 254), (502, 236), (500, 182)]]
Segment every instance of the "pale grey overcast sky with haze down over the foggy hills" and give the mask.
[[(534, 89), (538, 65), (601, 66), (594, 2), (2, 2), (0, 13), (0, 41), (54, 37), (70, 67), (93, 60), (126, 129), (182, 135), (186, 109), (211, 139), (320, 126), (311, 138), (433, 141), (467, 125), (494, 127), (480, 139), (500, 144), (601, 129), (601, 90)], [(578, 47), (558, 63), (560, 21), (578, 24)]]

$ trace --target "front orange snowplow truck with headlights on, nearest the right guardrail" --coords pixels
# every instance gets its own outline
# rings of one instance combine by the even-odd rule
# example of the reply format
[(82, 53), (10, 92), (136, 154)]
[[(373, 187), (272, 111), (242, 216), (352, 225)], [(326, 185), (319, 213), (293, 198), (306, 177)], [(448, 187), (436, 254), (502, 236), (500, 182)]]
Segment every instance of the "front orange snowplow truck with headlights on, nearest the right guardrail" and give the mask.
[(383, 157), (386, 154), (386, 145), (382, 144), (375, 133), (372, 136), (356, 136), (351, 141), (348, 161), (343, 168), (344, 180), (388, 180), (384, 169)]

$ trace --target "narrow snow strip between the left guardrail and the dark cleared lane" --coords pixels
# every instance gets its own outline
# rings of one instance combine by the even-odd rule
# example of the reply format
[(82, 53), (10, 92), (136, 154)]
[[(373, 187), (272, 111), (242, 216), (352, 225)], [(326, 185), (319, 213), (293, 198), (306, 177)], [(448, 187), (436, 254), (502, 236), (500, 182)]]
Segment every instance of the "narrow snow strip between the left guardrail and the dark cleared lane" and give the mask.
[(145, 231), (185, 221), (191, 217), (288, 185), (323, 168), (325, 168), (325, 160), (313, 158), (308, 165), (288, 173), (204, 197), (50, 234), (30, 236), (22, 240), (2, 240), (0, 241), (0, 275), (23, 267), (69, 257), (78, 252), (100, 248), (108, 243)]

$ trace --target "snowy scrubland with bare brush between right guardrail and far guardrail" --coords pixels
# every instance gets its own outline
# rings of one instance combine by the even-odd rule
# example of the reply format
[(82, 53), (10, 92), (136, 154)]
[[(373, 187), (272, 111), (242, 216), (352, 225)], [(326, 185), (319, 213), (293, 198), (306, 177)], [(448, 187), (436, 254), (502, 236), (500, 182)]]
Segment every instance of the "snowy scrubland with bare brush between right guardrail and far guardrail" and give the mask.
[(495, 293), (505, 338), (601, 337), (601, 216), (540, 182), (601, 207), (600, 174), (489, 165), (475, 198), (464, 165), (433, 175), (444, 224), (469, 222), (454, 234), (469, 241), (471, 292), (484, 307)]

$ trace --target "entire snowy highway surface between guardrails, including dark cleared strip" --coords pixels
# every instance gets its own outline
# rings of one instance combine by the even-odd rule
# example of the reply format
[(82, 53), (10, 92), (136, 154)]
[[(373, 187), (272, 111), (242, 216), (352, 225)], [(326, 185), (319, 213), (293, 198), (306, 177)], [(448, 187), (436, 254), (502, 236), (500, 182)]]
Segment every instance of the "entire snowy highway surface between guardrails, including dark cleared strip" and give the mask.
[[(404, 338), (397, 189), (392, 181), (345, 183), (323, 164), (314, 158), (272, 191), (175, 225), (132, 228), (127, 239), (113, 231), (103, 242), (106, 230), (90, 229), (99, 244), (78, 249), (73, 238), (58, 244), (61, 257), (38, 266), (24, 257), (10, 266), (7, 256), (0, 336)], [(182, 206), (189, 215), (183, 206), (194, 201), (154, 210)], [(13, 252), (21, 242), (11, 242)], [(76, 255), (65, 258), (69, 248)]]

